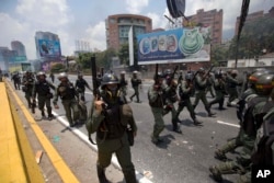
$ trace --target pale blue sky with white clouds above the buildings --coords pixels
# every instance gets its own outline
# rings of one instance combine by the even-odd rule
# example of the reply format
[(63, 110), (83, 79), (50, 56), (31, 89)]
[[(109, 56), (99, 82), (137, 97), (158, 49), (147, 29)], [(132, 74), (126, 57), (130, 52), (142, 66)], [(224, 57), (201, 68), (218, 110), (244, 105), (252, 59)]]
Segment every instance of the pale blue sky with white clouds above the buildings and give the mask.
[[(273, 0), (250, 0), (249, 13), (269, 12)], [(241, 0), (185, 0), (185, 16), (198, 9), (224, 11), (222, 38), (233, 36)], [(24, 44), (28, 59), (36, 58), (35, 32), (58, 34), (61, 54), (73, 55), (76, 41), (92, 49), (106, 49), (105, 19), (113, 14), (141, 14), (152, 19), (152, 28), (168, 28), (167, 0), (0, 0), (0, 46), (11, 49), (12, 41)]]

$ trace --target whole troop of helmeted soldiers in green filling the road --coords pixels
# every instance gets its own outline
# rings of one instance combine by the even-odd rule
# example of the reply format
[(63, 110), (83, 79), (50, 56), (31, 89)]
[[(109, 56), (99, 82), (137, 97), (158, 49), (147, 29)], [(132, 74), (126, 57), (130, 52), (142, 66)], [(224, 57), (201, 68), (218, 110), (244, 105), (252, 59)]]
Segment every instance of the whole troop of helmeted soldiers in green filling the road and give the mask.
[[(174, 73), (174, 72), (173, 72)], [(163, 141), (160, 137), (164, 129), (163, 116), (171, 113), (171, 123), (175, 133), (182, 133), (180, 128), (180, 113), (186, 107), (194, 125), (201, 125), (196, 117), (195, 107), (199, 100), (203, 102), (208, 116), (215, 116), (212, 112), (212, 105), (218, 104), (219, 110), (225, 110), (225, 95), (229, 94), (227, 106), (231, 106), (235, 99), (239, 99), (237, 103), (237, 116), (240, 121), (240, 130), (237, 137), (229, 139), (222, 147), (215, 151), (215, 158), (224, 161), (209, 168), (210, 174), (217, 182), (222, 181), (221, 174), (240, 173), (238, 182), (251, 182), (252, 164), (274, 164), (274, 148), (272, 142), (274, 139), (274, 77), (267, 70), (258, 70), (247, 77), (247, 82), (241, 83), (237, 80), (238, 72), (221, 70), (215, 72), (206, 72), (204, 68), (199, 68), (196, 72), (187, 72), (184, 77), (174, 78), (170, 70), (164, 72), (156, 72), (155, 82), (148, 90), (148, 101), (155, 117), (153, 130), (151, 133), (151, 141), (156, 145)], [(52, 119), (50, 99), (55, 108), (58, 98), (60, 96), (66, 116), (73, 127), (79, 123), (79, 101), (84, 101), (84, 89), (91, 89), (88, 82), (78, 76), (75, 84), (72, 84), (67, 73), (59, 73), (60, 83), (55, 87), (46, 80), (45, 72), (38, 72), (36, 78), (27, 73), (23, 78), (23, 90), (27, 100), (28, 107), (35, 104), (36, 94), (38, 95), (38, 108), (44, 113), (46, 105), (48, 119)], [(125, 72), (121, 72), (117, 78), (113, 72), (107, 72), (102, 77), (98, 77), (100, 82), (99, 93), (94, 95), (89, 112), (89, 116), (84, 119), (89, 134), (96, 133), (98, 151), (98, 178), (100, 183), (109, 182), (105, 175), (105, 169), (111, 163), (112, 153), (116, 153), (118, 162), (126, 182), (135, 183), (135, 168), (132, 162), (130, 146), (133, 139), (137, 135), (137, 126), (134, 119), (133, 110), (127, 101), (127, 80)], [(139, 88), (141, 80), (138, 72), (134, 71), (130, 79), (134, 94), (129, 96), (129, 101), (136, 96), (139, 99)], [(206, 94), (208, 83), (212, 83), (215, 90), (214, 100), (207, 101)], [(241, 85), (242, 92), (238, 98), (237, 88)], [(30, 89), (28, 89), (30, 88)], [(50, 89), (55, 90), (54, 94), (49, 94)], [(28, 93), (30, 92), (30, 93)], [(191, 96), (195, 96), (194, 103)], [(82, 94), (82, 95), (81, 95)], [(271, 100), (269, 100), (271, 99)], [(175, 107), (178, 103), (178, 107)], [(71, 114), (71, 111), (73, 115)], [(45, 113), (44, 113), (45, 115)], [(81, 115), (80, 115), (81, 116)], [(132, 129), (130, 133), (128, 133)], [(90, 139), (94, 142), (92, 139)], [(271, 141), (272, 140), (272, 141)], [(241, 147), (239, 157), (236, 160), (229, 160), (227, 152), (231, 152), (236, 148)], [(271, 153), (262, 153), (266, 150)], [(269, 152), (269, 151), (267, 151)], [(267, 156), (266, 156), (267, 155)]]

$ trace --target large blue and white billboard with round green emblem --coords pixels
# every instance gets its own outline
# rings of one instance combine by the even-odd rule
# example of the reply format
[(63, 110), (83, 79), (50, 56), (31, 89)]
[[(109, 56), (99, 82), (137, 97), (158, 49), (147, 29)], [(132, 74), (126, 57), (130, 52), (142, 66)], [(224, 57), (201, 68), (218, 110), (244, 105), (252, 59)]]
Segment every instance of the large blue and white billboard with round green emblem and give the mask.
[(138, 64), (208, 61), (209, 36), (210, 27), (175, 28), (138, 35)]

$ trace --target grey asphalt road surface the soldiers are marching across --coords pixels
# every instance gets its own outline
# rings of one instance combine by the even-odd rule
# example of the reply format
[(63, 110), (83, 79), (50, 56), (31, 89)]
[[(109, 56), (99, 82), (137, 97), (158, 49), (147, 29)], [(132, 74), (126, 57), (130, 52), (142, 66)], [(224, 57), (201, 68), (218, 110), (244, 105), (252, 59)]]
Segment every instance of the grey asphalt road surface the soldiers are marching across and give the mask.
[[(84, 77), (84, 79), (92, 83), (91, 77)], [(76, 77), (70, 76), (70, 80), (73, 82)], [(236, 108), (229, 107), (225, 111), (218, 111), (216, 105), (213, 106), (213, 112), (217, 112), (217, 116), (207, 117), (203, 104), (199, 103), (196, 107), (196, 113), (198, 119), (204, 122), (201, 127), (192, 124), (189, 112), (185, 108), (180, 115), (182, 119), (182, 135), (171, 130), (171, 114), (168, 114), (164, 116), (167, 126), (161, 134), (164, 142), (156, 146), (150, 141), (153, 117), (147, 100), (147, 90), (151, 83), (152, 81), (149, 80), (144, 81), (140, 90), (142, 103), (130, 103), (138, 126), (136, 142), (132, 148), (136, 170), (139, 174), (147, 171), (151, 172), (148, 178), (155, 183), (171, 181), (173, 183), (214, 182), (209, 176), (208, 167), (219, 163), (218, 160), (214, 159), (215, 148), (226, 142), (227, 138), (235, 137), (238, 133)], [(128, 95), (132, 93), (133, 90), (129, 84)], [(85, 98), (88, 108), (90, 108), (93, 98), (92, 92), (87, 90)], [(208, 96), (208, 100), (212, 100), (212, 98)], [(60, 103), (59, 106), (61, 106)], [(67, 123), (62, 107), (54, 112), (62, 118), (60, 119), (62, 123)], [(79, 136), (85, 138), (85, 127), (81, 126), (78, 129)], [(237, 175), (225, 175), (224, 178), (227, 180), (225, 182), (235, 182)]]

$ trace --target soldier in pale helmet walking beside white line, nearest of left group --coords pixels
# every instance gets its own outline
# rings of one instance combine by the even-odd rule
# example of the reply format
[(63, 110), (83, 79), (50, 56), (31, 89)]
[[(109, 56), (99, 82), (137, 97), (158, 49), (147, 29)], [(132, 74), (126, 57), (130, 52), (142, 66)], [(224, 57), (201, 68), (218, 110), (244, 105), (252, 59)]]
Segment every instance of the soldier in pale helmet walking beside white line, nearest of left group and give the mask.
[[(79, 121), (79, 95), (73, 84), (68, 80), (68, 76), (66, 72), (59, 73), (58, 79), (60, 80), (60, 83), (56, 88), (53, 103), (55, 108), (58, 110), (59, 106), (57, 105), (57, 101), (60, 96), (61, 103), (66, 112), (66, 117), (69, 122), (69, 126), (73, 127)], [(71, 111), (73, 112), (73, 117), (71, 116)]]

